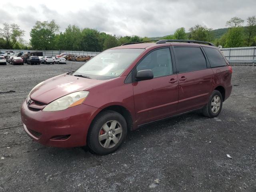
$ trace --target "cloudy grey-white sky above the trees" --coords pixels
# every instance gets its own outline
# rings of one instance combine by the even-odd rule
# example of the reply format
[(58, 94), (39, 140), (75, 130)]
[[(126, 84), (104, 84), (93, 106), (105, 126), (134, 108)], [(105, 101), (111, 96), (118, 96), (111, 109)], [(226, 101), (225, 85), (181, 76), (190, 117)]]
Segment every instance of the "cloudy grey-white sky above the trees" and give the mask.
[(246, 20), (255, 14), (256, 0), (12, 0), (1, 2), (0, 28), (4, 22), (17, 23), (28, 41), (36, 20), (54, 19), (60, 31), (75, 24), (118, 36), (155, 37), (195, 24), (224, 28), (234, 16)]

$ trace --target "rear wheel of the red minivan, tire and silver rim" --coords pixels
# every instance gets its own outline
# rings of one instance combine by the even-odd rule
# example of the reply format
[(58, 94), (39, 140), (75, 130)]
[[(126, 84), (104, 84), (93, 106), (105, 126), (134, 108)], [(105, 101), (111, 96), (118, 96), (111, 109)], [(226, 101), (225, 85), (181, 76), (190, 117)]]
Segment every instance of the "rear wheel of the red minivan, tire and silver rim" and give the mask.
[(214, 90), (208, 100), (208, 103), (202, 109), (203, 115), (210, 118), (218, 116), (222, 109), (222, 102), (222, 94), (218, 90)]

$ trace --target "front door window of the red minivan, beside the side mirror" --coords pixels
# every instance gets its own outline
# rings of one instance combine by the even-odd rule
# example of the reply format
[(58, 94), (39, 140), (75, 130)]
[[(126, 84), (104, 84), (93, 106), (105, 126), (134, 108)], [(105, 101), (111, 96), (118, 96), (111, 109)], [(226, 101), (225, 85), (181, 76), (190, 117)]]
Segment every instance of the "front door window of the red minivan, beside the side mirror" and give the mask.
[(140, 70), (151, 69), (154, 77), (172, 74), (172, 59), (169, 48), (158, 49), (148, 54), (136, 67)]

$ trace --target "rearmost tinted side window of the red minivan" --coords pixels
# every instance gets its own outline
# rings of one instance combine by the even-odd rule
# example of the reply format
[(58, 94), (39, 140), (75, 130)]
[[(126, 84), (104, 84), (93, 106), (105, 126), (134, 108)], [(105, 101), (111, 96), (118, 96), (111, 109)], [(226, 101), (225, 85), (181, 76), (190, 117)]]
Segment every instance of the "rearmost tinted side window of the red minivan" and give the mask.
[(222, 54), (217, 49), (210, 47), (203, 47), (206, 56), (210, 62), (211, 67), (226, 66), (226, 61), (224, 60)]

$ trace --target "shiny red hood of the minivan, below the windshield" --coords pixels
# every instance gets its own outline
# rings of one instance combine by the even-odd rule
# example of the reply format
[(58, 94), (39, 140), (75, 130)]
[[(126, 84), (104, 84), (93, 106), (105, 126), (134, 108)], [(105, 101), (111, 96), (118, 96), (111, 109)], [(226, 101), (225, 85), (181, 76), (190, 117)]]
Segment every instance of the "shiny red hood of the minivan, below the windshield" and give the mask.
[(67, 94), (87, 90), (104, 82), (104, 80), (88, 79), (62, 74), (45, 80), (30, 93), (32, 100), (48, 104)]

